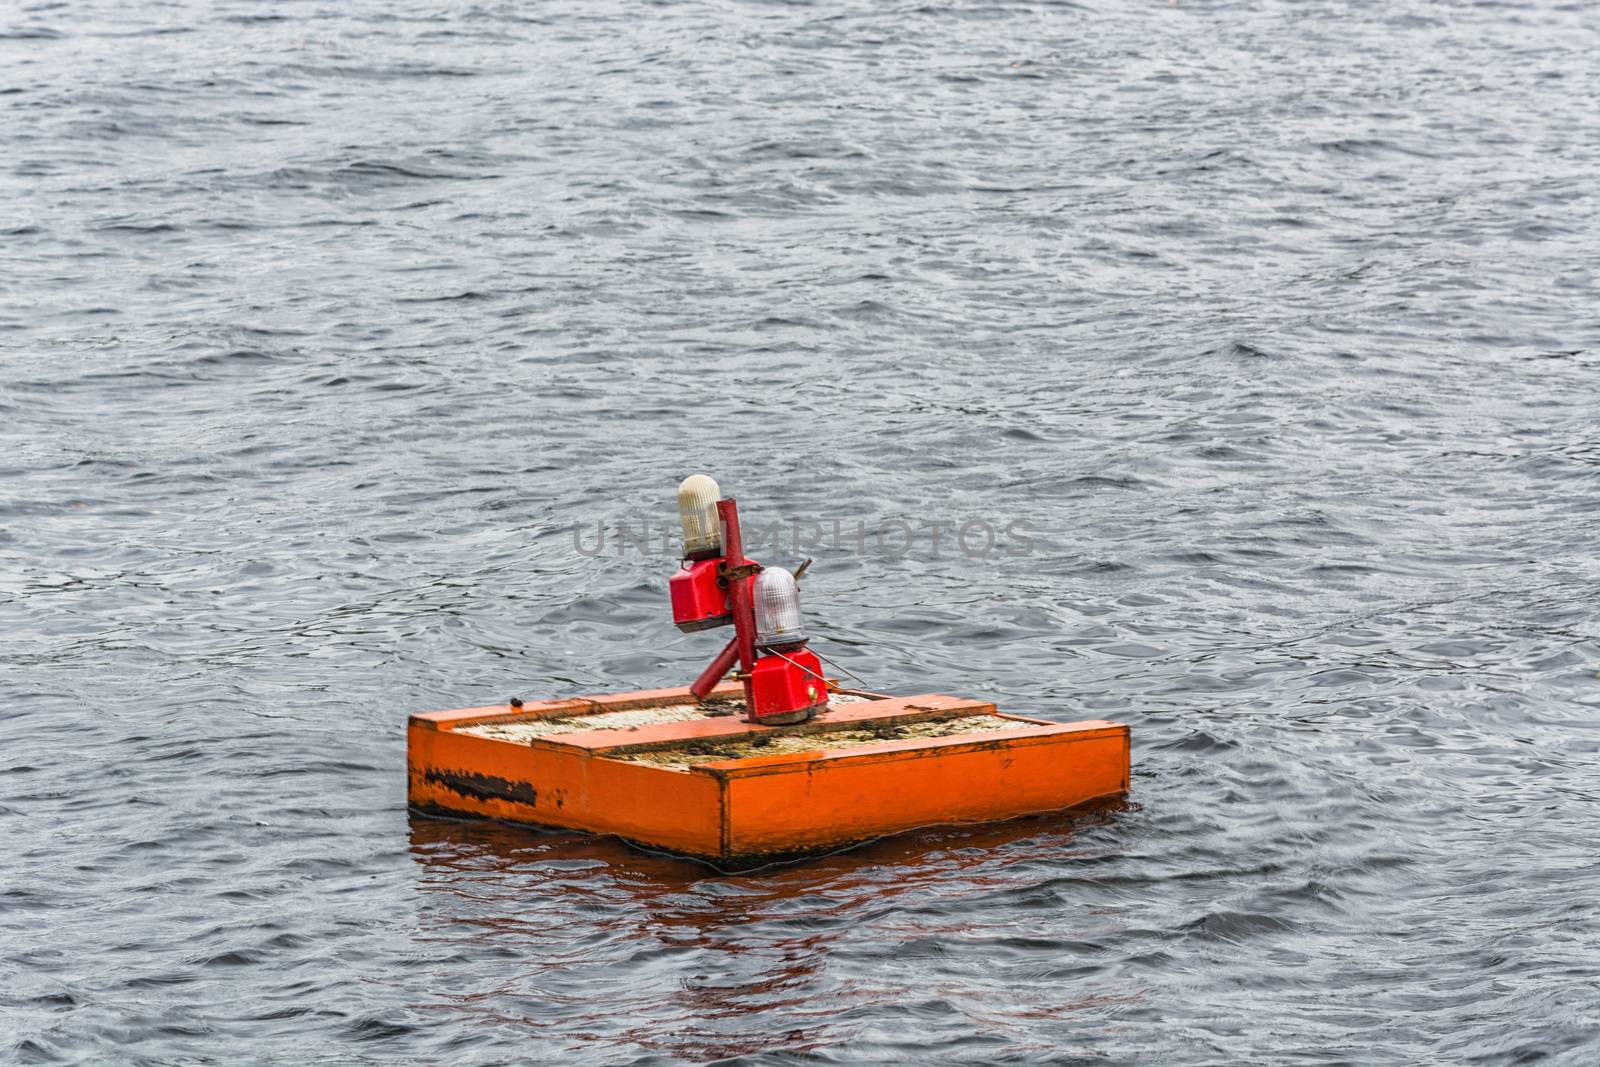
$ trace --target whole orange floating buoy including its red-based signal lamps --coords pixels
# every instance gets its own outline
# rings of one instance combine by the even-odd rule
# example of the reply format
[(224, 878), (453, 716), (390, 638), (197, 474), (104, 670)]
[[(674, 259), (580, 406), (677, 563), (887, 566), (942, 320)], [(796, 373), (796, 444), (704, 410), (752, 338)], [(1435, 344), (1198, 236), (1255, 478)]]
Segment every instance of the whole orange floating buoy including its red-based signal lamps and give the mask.
[(1128, 790), (1123, 723), (827, 678), (800, 614), (806, 565), (747, 558), (738, 506), (706, 475), (678, 486), (678, 515), (672, 619), (685, 632), (734, 629), (710, 665), (678, 689), (413, 715), (413, 808), (744, 865)]

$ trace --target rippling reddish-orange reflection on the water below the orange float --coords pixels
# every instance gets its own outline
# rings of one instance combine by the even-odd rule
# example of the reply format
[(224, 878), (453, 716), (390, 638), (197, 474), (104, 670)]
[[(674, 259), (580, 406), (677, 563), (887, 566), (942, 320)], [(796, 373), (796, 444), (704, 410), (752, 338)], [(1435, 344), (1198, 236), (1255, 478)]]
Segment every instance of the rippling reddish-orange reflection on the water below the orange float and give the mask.
[(1074, 838), (1126, 806), (936, 827), (734, 873), (614, 838), (413, 814), (416, 939), (474, 961), (419, 1009), (693, 1061), (838, 1048), (882, 1025), (867, 1022), (878, 1009), (930, 998), (984, 1030), (1070, 1016), (1070, 998), (973, 1003), (970, 985), (918, 979), (898, 947), (968, 937), (986, 899), (1038, 877), (1019, 880), (1019, 865), (1096, 854)]

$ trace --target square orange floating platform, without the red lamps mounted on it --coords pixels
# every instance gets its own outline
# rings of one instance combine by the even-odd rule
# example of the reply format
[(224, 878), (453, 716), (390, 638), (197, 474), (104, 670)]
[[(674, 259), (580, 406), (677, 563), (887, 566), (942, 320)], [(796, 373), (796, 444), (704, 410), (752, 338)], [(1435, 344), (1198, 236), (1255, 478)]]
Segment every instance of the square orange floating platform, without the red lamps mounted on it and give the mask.
[(806, 723), (741, 718), (739, 685), (413, 715), (411, 805), (613, 833), (725, 867), (1128, 790), (1128, 728), (955, 696), (834, 691)]

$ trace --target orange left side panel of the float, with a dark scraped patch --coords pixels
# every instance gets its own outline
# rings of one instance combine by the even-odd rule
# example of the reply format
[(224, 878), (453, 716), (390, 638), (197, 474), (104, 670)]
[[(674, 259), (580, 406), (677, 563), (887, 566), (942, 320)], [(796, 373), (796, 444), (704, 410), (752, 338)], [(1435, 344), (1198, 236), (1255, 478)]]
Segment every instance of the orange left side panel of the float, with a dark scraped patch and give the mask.
[(698, 856), (722, 853), (723, 784), (714, 777), (430, 723), (413, 723), (406, 741), (418, 808), (616, 833)]

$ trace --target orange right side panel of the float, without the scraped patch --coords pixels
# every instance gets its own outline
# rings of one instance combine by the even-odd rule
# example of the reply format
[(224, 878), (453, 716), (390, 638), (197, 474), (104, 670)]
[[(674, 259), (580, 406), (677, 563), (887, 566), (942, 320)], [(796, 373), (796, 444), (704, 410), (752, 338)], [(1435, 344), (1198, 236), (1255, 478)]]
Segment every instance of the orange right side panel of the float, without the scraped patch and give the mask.
[(1128, 757), (1128, 728), (1096, 721), (707, 777), (728, 787), (728, 854), (758, 856), (1070, 808), (1126, 792)]

